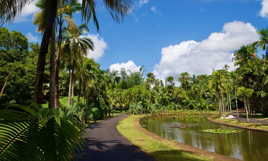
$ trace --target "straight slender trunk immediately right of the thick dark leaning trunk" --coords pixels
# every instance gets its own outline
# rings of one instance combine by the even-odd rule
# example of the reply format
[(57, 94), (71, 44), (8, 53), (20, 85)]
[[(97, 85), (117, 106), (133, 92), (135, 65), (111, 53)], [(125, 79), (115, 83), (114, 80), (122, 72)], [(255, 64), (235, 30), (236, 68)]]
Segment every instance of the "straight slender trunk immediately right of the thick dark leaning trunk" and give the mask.
[(55, 53), (56, 53), (55, 26), (53, 26), (50, 40), (50, 73), (49, 73), (49, 101), (48, 108), (55, 108)]

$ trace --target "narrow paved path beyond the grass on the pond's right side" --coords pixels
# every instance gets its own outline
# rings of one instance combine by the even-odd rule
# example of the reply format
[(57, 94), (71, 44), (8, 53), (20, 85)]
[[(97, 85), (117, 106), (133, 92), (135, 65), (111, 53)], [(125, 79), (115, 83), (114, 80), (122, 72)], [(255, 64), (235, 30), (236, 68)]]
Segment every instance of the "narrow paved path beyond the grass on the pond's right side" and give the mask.
[[(226, 113), (225, 115), (232, 115), (234, 117), (237, 117), (237, 111), (233, 110), (232, 112)], [(239, 121), (247, 122), (246, 110), (238, 110), (238, 116), (239, 116)], [(233, 120), (237, 120), (237, 118), (233, 118)], [(249, 118), (249, 122), (250, 123), (258, 123), (258, 124), (267, 124), (268, 125), (267, 120)]]

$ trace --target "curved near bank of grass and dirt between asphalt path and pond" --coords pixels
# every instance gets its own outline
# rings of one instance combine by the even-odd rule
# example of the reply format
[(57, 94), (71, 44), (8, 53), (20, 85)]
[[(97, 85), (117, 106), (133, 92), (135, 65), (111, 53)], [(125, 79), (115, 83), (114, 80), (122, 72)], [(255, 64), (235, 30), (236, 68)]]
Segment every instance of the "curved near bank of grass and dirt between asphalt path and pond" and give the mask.
[(238, 160), (153, 134), (141, 127), (138, 118), (139, 116), (134, 115), (127, 117), (120, 121), (117, 129), (133, 144), (157, 160)]

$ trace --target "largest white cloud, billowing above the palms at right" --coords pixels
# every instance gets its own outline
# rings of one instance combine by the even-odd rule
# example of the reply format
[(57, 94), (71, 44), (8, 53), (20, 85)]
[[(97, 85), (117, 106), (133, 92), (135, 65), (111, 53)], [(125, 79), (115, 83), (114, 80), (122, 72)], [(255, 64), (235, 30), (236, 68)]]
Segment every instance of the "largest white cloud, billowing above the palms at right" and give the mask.
[(225, 64), (230, 66), (229, 70), (233, 70), (232, 52), (242, 45), (257, 41), (259, 36), (256, 31), (250, 23), (234, 21), (226, 23), (222, 32), (211, 33), (201, 42), (183, 41), (164, 47), (153, 73), (162, 80), (171, 75), (178, 85), (177, 78), (182, 72), (190, 75), (211, 74), (212, 69), (222, 69)]

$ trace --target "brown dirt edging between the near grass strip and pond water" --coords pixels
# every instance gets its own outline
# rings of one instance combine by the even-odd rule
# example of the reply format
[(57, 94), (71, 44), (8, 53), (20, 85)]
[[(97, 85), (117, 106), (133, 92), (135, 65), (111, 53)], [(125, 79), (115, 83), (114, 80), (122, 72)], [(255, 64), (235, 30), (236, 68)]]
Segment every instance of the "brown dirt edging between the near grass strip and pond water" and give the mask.
[[(143, 133), (144, 135), (147, 135), (159, 142), (167, 142), (170, 141), (169, 139), (163, 138), (159, 135), (156, 135), (146, 129), (144, 129), (143, 127), (140, 126), (139, 123), (139, 119), (135, 119), (134, 121), (134, 127), (136, 128), (136, 130), (138, 130), (139, 132)], [(197, 156), (201, 156), (201, 157), (206, 157), (208, 159), (211, 160), (215, 160), (215, 161), (226, 161), (226, 160), (234, 160), (234, 161), (238, 161), (239, 159), (235, 159), (235, 158), (231, 158), (225, 155), (221, 155), (221, 154), (217, 154), (217, 153), (213, 153), (211, 151), (206, 151), (203, 149), (199, 149), (197, 147), (192, 147), (190, 145), (184, 144), (184, 143), (179, 143), (177, 141), (174, 141), (174, 145), (178, 148), (180, 148), (182, 151), (186, 151), (186, 152), (190, 152), (192, 154), (195, 154)]]

